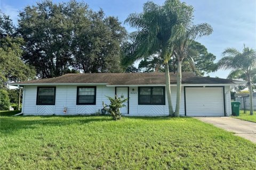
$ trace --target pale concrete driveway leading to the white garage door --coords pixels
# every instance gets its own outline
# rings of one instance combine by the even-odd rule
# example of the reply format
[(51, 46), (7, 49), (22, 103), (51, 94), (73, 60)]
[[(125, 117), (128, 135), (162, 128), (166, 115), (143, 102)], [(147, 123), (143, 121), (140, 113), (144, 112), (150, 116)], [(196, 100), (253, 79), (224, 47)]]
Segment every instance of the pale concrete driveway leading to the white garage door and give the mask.
[(235, 135), (256, 143), (256, 123), (242, 121), (232, 117), (196, 117), (206, 123), (211, 123), (218, 128), (234, 132)]

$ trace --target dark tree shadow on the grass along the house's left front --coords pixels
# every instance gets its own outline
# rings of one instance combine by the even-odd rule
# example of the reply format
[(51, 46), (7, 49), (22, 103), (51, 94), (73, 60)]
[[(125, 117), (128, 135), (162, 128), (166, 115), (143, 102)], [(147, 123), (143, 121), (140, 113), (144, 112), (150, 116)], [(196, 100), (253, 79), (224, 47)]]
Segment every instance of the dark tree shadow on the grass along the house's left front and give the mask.
[(110, 116), (5, 116), (0, 118), (0, 133), (12, 134), (21, 129), (38, 129), (42, 126), (66, 126), (104, 121), (112, 121), (112, 119)]

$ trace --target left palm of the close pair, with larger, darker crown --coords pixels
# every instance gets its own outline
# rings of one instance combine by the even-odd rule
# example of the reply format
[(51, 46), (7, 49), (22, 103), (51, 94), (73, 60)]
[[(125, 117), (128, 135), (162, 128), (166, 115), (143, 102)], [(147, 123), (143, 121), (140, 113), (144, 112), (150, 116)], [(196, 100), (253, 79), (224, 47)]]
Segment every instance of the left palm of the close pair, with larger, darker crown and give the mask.
[[(165, 66), (166, 92), (169, 115), (173, 116), (171, 101), (170, 75), (168, 61), (173, 56), (172, 38), (175, 25), (187, 25), (193, 14), (193, 7), (179, 0), (167, 0), (163, 6), (153, 2), (143, 5), (142, 13), (133, 13), (125, 20), (131, 27), (137, 28), (130, 35), (125, 48), (125, 55), (130, 63), (154, 55), (161, 58)], [(127, 45), (126, 44), (126, 45)], [(126, 61), (126, 63), (128, 62)]]

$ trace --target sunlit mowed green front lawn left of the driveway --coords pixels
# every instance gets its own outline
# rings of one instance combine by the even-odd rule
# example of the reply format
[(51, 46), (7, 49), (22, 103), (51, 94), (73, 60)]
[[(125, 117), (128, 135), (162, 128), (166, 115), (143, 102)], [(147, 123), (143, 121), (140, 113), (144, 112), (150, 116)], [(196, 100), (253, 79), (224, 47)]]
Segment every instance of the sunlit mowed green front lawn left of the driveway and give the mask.
[(255, 169), (256, 145), (194, 118), (2, 116), (0, 169)]

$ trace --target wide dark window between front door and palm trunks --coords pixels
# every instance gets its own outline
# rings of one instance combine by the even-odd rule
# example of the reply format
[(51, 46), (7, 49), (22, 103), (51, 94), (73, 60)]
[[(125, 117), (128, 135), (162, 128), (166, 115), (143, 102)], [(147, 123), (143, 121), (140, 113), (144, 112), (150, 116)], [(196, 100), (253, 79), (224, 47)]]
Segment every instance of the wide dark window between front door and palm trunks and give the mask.
[(139, 87), (139, 105), (165, 105), (164, 87)]

